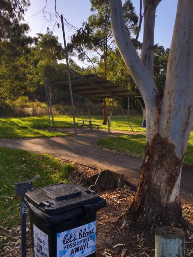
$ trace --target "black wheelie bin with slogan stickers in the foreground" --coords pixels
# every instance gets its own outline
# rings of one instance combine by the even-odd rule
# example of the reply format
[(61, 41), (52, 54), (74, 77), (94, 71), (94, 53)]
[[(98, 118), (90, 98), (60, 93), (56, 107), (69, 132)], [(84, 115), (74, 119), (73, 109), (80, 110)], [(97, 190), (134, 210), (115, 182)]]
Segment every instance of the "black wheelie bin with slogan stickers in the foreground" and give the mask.
[(96, 213), (106, 201), (96, 192), (60, 183), (26, 192), (34, 257), (94, 257)]

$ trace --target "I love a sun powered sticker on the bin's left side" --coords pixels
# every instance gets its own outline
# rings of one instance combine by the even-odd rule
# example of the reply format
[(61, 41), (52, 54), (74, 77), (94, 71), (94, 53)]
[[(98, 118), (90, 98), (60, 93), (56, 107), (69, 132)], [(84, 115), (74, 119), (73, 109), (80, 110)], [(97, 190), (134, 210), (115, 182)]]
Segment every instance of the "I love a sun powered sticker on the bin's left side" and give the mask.
[(34, 228), (34, 256), (35, 257), (49, 257), (48, 252), (48, 235), (38, 229), (33, 224)]

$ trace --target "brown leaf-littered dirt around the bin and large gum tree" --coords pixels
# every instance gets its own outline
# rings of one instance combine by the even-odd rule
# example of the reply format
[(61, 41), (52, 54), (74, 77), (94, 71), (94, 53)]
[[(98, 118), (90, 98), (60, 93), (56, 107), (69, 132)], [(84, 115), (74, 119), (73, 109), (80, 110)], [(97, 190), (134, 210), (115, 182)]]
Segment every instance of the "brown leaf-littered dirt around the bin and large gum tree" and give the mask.
[[(65, 161), (67, 162), (67, 161)], [(91, 175), (99, 170), (77, 164), (76, 170), (69, 175), (68, 180), (72, 183), (89, 187), (92, 182)], [(139, 257), (155, 256), (154, 233), (128, 228), (122, 230), (117, 223), (118, 218), (129, 208), (132, 203), (134, 192), (126, 183), (121, 190), (108, 188), (101, 192), (98, 187), (94, 189), (101, 197), (106, 199), (107, 206), (97, 213), (97, 257)], [(186, 256), (193, 256), (193, 206), (183, 205), (183, 214), (189, 223), (184, 230), (186, 238)], [(20, 225), (13, 228), (0, 227), (0, 242), (4, 244), (0, 256), (20, 256)], [(31, 235), (29, 222), (27, 222), (27, 256), (32, 257)], [(50, 256), (52, 257), (52, 256)]]

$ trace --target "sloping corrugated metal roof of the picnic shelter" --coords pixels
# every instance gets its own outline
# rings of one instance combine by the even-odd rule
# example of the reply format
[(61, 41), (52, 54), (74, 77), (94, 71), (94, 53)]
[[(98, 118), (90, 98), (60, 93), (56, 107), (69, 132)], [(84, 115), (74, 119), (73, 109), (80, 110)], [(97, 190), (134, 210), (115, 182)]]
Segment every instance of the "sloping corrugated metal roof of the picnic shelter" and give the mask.
[[(75, 76), (71, 78), (72, 93), (80, 96), (96, 100), (113, 97), (121, 99), (124, 97), (140, 96), (127, 88), (124, 88), (109, 80), (105, 80), (104, 78), (95, 74), (83, 76), (72, 69), (70, 69), (70, 73)], [(69, 91), (68, 79), (52, 80), (47, 82), (47, 85), (64, 91)]]

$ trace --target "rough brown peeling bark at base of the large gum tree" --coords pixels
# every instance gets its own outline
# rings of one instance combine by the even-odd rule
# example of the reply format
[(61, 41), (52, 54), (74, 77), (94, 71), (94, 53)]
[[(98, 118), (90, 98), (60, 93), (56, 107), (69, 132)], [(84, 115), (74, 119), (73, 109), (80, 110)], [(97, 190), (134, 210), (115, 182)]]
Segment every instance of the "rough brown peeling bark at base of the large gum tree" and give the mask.
[(132, 222), (148, 229), (183, 223), (179, 197), (182, 165), (183, 157), (176, 157), (175, 145), (156, 134), (151, 145), (147, 144), (132, 206), (120, 218), (123, 226)]

